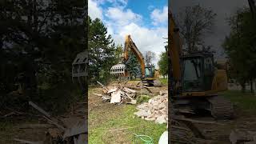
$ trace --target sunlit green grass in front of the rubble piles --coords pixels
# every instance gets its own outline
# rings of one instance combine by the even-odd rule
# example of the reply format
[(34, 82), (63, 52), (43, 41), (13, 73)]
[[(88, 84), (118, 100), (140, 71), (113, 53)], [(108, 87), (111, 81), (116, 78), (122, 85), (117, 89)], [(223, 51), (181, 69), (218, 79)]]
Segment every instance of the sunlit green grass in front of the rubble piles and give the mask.
[[(118, 108), (119, 109), (119, 108)], [(89, 114), (89, 123), (95, 118), (102, 118), (104, 122), (96, 123), (89, 126), (89, 143), (132, 143), (134, 134), (144, 134), (153, 138), (154, 143), (158, 143), (161, 134), (166, 130), (166, 124), (157, 124), (138, 118), (134, 112), (137, 110), (133, 105), (120, 106), (118, 112), (110, 114), (102, 118), (102, 113)], [(127, 127), (134, 127), (126, 130), (106, 131), (114, 129), (122, 129)], [(142, 142), (139, 142), (142, 143)]]

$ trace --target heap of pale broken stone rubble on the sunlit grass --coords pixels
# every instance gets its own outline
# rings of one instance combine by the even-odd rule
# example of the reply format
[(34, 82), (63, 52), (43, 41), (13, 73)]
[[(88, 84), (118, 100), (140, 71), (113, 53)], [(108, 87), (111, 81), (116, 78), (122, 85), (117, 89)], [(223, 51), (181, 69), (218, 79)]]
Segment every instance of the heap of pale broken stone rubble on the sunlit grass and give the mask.
[(157, 123), (168, 122), (168, 94), (167, 91), (160, 91), (160, 94), (151, 98), (148, 102), (137, 106), (138, 112), (135, 112), (138, 117), (147, 121)]

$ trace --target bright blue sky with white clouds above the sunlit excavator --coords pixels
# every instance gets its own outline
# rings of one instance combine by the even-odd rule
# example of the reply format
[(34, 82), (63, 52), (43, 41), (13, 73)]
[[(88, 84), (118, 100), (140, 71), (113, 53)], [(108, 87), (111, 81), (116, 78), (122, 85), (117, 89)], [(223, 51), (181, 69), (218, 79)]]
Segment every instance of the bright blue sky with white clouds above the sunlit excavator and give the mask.
[(150, 50), (159, 55), (165, 51), (168, 26), (167, 0), (89, 0), (88, 9), (92, 19), (100, 18), (108, 34), (117, 44), (123, 44), (130, 34), (143, 53)]

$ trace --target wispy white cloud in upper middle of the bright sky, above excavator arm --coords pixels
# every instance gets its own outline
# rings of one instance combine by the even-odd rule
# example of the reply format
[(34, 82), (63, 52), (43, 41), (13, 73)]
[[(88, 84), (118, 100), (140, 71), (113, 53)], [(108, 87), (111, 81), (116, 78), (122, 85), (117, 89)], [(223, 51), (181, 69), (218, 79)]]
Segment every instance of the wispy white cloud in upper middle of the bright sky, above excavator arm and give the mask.
[(116, 7), (110, 7), (106, 11), (106, 18), (109, 18), (114, 25), (125, 26), (130, 22), (141, 22), (142, 16), (135, 14), (130, 9), (122, 10)]

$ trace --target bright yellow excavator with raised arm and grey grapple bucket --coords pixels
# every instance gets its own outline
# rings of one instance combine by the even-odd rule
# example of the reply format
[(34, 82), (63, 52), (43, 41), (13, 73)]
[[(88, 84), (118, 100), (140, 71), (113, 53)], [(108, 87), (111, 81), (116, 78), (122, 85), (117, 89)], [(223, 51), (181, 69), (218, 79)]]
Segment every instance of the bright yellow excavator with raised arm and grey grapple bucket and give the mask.
[(130, 35), (126, 35), (122, 62), (119, 62), (117, 65), (112, 66), (110, 69), (110, 74), (118, 76), (120, 80), (130, 80), (129, 71), (126, 69), (126, 65), (124, 64), (129, 59), (130, 50), (135, 54), (138, 62), (140, 63), (142, 83), (147, 86), (161, 86), (161, 82), (159, 81), (159, 71), (155, 69), (152, 65), (145, 65), (142, 53), (138, 50), (137, 46), (130, 38)]

